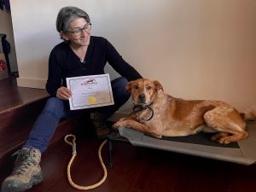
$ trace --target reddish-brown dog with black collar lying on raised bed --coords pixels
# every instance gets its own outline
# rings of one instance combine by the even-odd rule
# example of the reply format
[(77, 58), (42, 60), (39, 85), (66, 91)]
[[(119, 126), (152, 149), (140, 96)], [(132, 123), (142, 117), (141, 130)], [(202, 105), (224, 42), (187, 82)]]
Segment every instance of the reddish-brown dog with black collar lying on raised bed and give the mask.
[[(119, 119), (113, 128), (130, 127), (154, 137), (218, 132), (212, 141), (224, 144), (247, 137), (245, 119), (226, 102), (175, 98), (167, 95), (158, 81), (148, 79), (131, 81), (126, 89), (131, 92), (134, 112)], [(251, 114), (250, 117), (255, 119), (256, 116), (252, 118)]]

